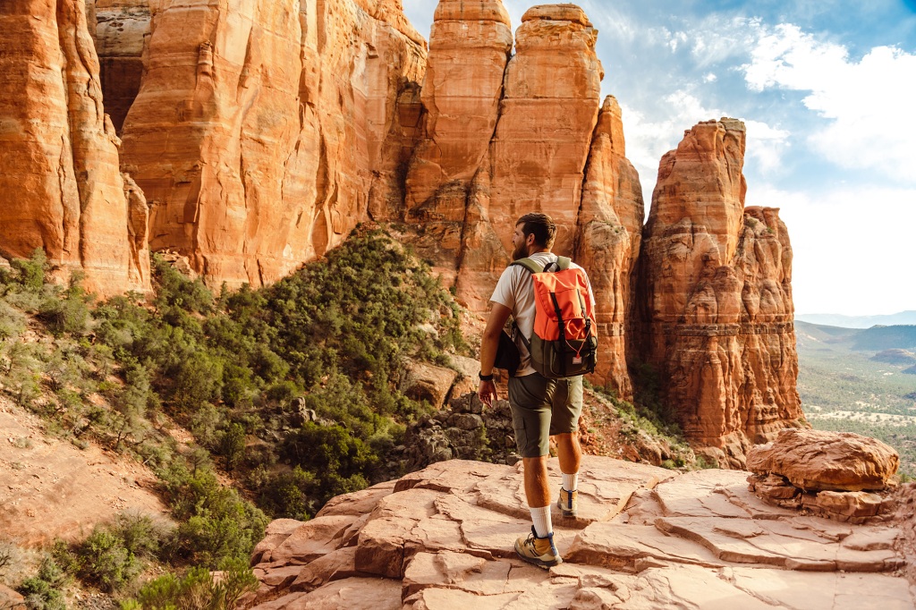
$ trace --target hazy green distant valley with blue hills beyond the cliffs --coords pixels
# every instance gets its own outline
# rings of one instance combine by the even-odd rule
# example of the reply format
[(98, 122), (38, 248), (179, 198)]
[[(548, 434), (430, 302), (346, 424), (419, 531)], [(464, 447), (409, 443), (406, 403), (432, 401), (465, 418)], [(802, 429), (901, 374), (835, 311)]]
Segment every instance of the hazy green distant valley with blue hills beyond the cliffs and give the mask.
[(916, 476), (916, 325), (868, 329), (795, 321), (799, 394), (818, 430), (873, 436)]

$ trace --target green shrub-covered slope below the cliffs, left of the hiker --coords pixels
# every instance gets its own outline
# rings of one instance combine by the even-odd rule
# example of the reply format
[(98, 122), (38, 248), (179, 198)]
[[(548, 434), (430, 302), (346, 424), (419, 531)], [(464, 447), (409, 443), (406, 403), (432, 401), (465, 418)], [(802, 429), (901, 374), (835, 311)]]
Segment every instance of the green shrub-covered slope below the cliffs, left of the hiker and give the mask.
[[(218, 296), (154, 256), (148, 303), (128, 294), (96, 305), (79, 277), (51, 284), (40, 251), (11, 267), (0, 269), (5, 393), (49, 434), (153, 468), (178, 523), (160, 531), (124, 517), (57, 545), (20, 587), (44, 600), (34, 607), (57, 607), (69, 578), (126, 594), (150, 561), (185, 575), (150, 583), (144, 608), (232, 607), (244, 574), (213, 583), (207, 571), (247, 561), (269, 517), (307, 519), (332, 496), (401, 474), (394, 449), (431, 410), (399, 392), (405, 359), (447, 365), (467, 349), (451, 296), (379, 231), (270, 288)], [(190, 447), (169, 434), (176, 425)]]

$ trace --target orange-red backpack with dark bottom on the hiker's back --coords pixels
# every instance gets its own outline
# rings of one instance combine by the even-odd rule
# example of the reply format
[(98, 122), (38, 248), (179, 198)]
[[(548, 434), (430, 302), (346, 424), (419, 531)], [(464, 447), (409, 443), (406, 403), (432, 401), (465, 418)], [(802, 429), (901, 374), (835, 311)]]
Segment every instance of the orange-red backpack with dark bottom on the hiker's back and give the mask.
[[(534, 280), (534, 334), (522, 334), (531, 366), (549, 379), (593, 373), (598, 362), (594, 310), (588, 280), (571, 259), (559, 256), (543, 269), (531, 258), (512, 265), (525, 267)], [(555, 267), (555, 270), (551, 268)]]

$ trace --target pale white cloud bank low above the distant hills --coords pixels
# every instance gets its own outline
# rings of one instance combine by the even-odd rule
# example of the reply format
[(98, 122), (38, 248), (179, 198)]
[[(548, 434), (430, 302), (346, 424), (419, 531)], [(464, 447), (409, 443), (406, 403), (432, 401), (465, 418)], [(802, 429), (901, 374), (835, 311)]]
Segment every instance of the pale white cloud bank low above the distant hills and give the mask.
[(903, 270), (912, 260), (916, 189), (847, 187), (814, 194), (763, 185), (747, 192), (747, 205), (780, 208), (792, 243), (797, 312), (916, 309), (916, 283)]

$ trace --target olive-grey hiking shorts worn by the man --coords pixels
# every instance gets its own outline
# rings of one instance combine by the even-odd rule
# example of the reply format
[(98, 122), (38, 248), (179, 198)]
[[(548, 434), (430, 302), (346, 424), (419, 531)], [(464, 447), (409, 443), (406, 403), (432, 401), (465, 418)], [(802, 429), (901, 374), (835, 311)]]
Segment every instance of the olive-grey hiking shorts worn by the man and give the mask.
[(509, 377), (509, 406), (522, 457), (550, 453), (550, 437), (579, 430), (582, 376), (547, 379), (537, 373)]

